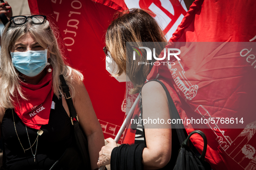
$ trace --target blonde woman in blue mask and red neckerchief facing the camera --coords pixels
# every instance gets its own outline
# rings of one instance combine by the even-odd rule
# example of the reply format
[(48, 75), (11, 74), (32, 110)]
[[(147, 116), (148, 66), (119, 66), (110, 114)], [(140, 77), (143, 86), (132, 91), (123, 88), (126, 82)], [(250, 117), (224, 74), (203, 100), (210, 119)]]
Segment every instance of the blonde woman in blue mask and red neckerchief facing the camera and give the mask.
[(104, 145), (102, 129), (83, 75), (65, 64), (46, 16), (11, 17), (1, 44), (2, 169), (50, 169), (67, 148), (75, 145), (61, 74), (87, 136), (91, 168), (97, 168), (97, 153)]

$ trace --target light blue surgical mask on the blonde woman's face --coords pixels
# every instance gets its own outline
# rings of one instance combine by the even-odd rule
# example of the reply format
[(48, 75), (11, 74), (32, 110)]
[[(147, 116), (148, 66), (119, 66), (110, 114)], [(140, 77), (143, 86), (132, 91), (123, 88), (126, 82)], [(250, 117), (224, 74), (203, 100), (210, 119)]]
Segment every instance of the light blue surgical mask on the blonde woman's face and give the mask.
[(35, 77), (49, 65), (47, 49), (40, 51), (11, 52), (13, 66), (28, 77)]

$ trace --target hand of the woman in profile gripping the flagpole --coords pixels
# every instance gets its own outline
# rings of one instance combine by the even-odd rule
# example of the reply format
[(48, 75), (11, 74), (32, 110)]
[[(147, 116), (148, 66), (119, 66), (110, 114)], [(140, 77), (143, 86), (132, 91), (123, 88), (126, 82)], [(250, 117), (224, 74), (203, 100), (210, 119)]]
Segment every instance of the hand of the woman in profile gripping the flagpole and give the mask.
[(99, 161), (97, 163), (99, 167), (110, 164), (111, 152), (113, 148), (117, 147), (116, 141), (114, 141), (112, 138), (107, 138), (106, 141), (109, 144), (101, 148), (101, 151), (99, 153), (100, 154)]

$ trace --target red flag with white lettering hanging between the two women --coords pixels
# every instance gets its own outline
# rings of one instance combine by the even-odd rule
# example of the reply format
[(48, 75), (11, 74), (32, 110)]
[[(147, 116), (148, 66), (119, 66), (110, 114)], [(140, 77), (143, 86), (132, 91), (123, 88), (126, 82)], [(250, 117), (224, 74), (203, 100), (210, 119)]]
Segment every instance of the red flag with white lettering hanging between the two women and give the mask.
[[(28, 0), (30, 11), (45, 14), (58, 31), (68, 64), (82, 72), (105, 138), (114, 138), (122, 125), (125, 83), (106, 70), (105, 31), (113, 14), (126, 10), (120, 0)], [(79, 22), (79, 23), (78, 23)], [(58, 29), (56, 29), (58, 28)], [(66, 44), (66, 46), (65, 46)]]

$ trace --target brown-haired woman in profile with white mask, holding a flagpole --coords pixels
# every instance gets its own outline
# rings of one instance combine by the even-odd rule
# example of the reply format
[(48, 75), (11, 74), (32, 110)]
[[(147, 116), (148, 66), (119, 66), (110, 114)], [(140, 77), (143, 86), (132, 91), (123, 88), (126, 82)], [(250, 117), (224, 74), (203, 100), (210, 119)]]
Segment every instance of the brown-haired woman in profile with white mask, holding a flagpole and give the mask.
[[(117, 67), (117, 72), (112, 75), (120, 77), (126, 74), (133, 83), (130, 93), (135, 94), (139, 93), (146, 82), (153, 65), (138, 65), (138, 61), (148, 62), (146, 54), (136, 55), (136, 60), (133, 60), (133, 53), (126, 48), (126, 42), (142, 46), (141, 42), (166, 42), (166, 39), (156, 20), (144, 10), (123, 11), (110, 23), (106, 33), (105, 54), (116, 63), (113, 67)], [(160, 54), (161, 51), (162, 48), (156, 48), (156, 54)], [(156, 59), (152, 58), (150, 62), (155, 61)], [(141, 95), (143, 115), (141, 112), (140, 117), (170, 119), (165, 90), (158, 82), (146, 83)], [(98, 166), (110, 164), (111, 170), (172, 169), (178, 155), (179, 143), (171, 125), (145, 128), (145, 131), (139, 126), (141, 125), (137, 125), (136, 129), (139, 138), (135, 138), (132, 145), (122, 144), (117, 147), (116, 142), (108, 138), (109, 144), (100, 151)]]

